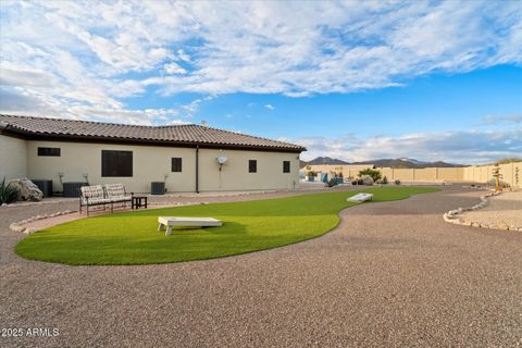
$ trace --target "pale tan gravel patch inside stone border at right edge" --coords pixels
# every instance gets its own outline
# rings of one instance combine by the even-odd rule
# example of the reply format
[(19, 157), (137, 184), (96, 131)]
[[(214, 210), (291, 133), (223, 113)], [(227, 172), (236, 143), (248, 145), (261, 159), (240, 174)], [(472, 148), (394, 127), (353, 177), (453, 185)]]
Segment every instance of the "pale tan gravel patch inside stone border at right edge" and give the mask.
[(478, 224), (507, 225), (522, 228), (522, 190), (504, 191), (499, 196), (488, 198), (489, 204), (483, 209), (462, 213), (464, 221)]

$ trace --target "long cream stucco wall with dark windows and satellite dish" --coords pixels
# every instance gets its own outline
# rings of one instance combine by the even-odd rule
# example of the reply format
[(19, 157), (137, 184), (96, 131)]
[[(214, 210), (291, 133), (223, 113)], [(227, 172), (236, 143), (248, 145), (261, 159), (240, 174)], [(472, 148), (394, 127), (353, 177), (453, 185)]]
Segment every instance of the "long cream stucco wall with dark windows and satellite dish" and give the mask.
[[(38, 157), (38, 147), (60, 148), (60, 157)], [(101, 177), (101, 150), (133, 151), (133, 177)], [(215, 158), (226, 156), (228, 163), (220, 172)], [(171, 159), (183, 159), (183, 172), (171, 172)], [(248, 160), (258, 160), (258, 173), (248, 173)], [(290, 173), (283, 173), (283, 161), (290, 161)], [(69, 141), (27, 141), (27, 174), (30, 178), (53, 181), (53, 190), (60, 191), (58, 173), (63, 182), (82, 182), (88, 174), (91, 185), (122, 183), (128, 191), (150, 192), (151, 182), (162, 182), (169, 174), (169, 192), (196, 190), (196, 149), (160, 146), (89, 144)], [(199, 150), (199, 189), (254, 190), (298, 187), (299, 154), (240, 150)], [(294, 182), (296, 183), (294, 186)]]

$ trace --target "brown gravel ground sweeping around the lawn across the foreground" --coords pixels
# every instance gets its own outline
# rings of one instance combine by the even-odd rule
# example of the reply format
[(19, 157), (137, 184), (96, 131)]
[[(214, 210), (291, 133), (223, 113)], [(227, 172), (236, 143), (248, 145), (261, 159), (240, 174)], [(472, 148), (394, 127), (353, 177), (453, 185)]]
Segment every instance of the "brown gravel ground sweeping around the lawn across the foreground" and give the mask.
[(522, 235), (442, 219), (482, 194), (452, 186), (366, 203), (313, 240), (146, 266), (23, 260), (9, 220), (34, 213), (3, 209), (1, 327), (60, 335), (0, 346), (521, 346)]

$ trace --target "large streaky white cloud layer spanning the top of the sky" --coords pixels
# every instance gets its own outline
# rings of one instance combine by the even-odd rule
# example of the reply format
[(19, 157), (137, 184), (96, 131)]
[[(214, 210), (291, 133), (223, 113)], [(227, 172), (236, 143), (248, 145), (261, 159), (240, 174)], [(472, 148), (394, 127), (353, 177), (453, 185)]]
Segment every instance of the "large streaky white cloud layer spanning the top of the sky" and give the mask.
[(154, 91), (302, 97), (522, 64), (520, 1), (41, 1), (4, 2), (0, 16), (3, 86), (96, 109)]

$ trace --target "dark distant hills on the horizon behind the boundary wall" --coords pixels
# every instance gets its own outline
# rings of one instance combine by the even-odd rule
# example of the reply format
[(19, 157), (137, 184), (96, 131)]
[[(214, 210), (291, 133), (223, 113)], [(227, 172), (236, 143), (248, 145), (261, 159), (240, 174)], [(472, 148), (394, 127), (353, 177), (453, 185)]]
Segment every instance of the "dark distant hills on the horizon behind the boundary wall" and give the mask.
[(414, 159), (381, 159), (381, 160), (373, 160), (373, 161), (361, 161), (361, 162), (346, 162), (338, 159), (333, 159), (330, 157), (318, 157), (311, 161), (300, 161), (300, 166), (303, 167), (306, 165), (320, 165), (320, 164), (334, 164), (334, 165), (343, 165), (343, 164), (374, 164), (375, 166), (389, 166), (389, 167), (407, 167), (407, 169), (422, 169), (422, 167), (457, 167), (457, 166), (464, 166), (462, 164), (453, 164), (447, 163), (443, 161), (435, 161), (435, 162), (423, 162), (418, 161)]

